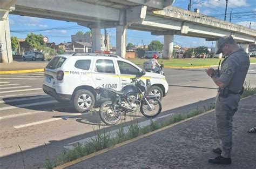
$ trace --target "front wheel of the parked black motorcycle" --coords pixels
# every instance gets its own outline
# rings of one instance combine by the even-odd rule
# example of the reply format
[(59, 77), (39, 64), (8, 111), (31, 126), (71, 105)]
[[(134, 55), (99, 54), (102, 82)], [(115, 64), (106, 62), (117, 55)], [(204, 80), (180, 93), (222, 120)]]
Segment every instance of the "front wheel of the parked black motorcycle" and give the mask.
[(148, 98), (147, 102), (143, 100), (140, 105), (140, 112), (142, 112), (143, 116), (151, 118), (158, 116), (162, 110), (160, 101), (157, 98)]

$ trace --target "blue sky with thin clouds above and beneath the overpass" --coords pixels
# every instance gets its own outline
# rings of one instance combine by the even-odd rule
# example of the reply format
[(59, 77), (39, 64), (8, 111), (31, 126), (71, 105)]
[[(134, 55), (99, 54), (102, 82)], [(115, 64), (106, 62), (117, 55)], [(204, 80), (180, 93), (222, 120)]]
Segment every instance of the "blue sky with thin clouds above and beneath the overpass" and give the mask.
[[(176, 0), (173, 6), (187, 9), (190, 0)], [(191, 11), (199, 8), (200, 13), (224, 20), (226, 0), (192, 0)], [(228, 0), (226, 21), (230, 19), (230, 11), (232, 11), (231, 22), (256, 30), (256, 1), (255, 0)], [(57, 21), (52, 19), (27, 17), (19, 15), (9, 15), (11, 36), (17, 38), (26, 38), (30, 32), (42, 34), (49, 38), (49, 42), (56, 44), (62, 42), (71, 42), (71, 35), (75, 35), (78, 31), (90, 31), (89, 28), (80, 26), (74, 22)], [(104, 29), (101, 30), (104, 34)], [(116, 29), (107, 29), (110, 35), (110, 43), (116, 46)], [(126, 44), (149, 45), (152, 40), (159, 40), (164, 43), (164, 36), (153, 36), (151, 32), (127, 30)], [(212, 42), (205, 41), (204, 38), (194, 38), (174, 35), (174, 45), (186, 48), (194, 46), (207, 46), (211, 48)], [(213, 47), (215, 42), (213, 43)]]

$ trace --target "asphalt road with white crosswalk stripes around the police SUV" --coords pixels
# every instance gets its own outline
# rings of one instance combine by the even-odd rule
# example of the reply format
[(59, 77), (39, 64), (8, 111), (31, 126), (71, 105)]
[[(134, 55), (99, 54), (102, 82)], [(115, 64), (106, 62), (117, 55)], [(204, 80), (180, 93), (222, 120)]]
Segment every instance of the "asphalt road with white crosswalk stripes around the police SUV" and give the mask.
[[(217, 86), (204, 69), (164, 71), (170, 86), (158, 118), (214, 103)], [(0, 75), (0, 79), (0, 168), (23, 168), (23, 160), (26, 168), (43, 167), (45, 159), (93, 137), (99, 127), (110, 131), (120, 126), (105, 126), (97, 110), (77, 113), (47, 96), (42, 91), (43, 72)], [(250, 66), (246, 82), (255, 86), (256, 65)], [(125, 125), (147, 120), (137, 112), (126, 117)]]

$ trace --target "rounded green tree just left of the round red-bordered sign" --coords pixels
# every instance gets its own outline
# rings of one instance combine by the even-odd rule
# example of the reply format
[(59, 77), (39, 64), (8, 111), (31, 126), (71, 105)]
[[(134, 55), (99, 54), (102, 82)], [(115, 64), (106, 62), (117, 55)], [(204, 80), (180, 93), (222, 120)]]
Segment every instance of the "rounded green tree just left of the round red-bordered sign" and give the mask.
[(31, 48), (38, 50), (41, 49), (44, 44), (43, 38), (43, 35), (36, 35), (31, 32), (26, 36), (26, 43), (28, 43)]

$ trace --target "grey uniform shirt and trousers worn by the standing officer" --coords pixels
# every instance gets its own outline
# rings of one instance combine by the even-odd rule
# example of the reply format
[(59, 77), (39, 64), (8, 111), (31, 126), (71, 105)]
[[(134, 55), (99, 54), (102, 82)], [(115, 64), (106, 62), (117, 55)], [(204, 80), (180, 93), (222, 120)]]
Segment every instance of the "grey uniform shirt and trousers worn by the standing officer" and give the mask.
[(240, 91), (250, 66), (250, 58), (244, 49), (238, 49), (221, 63), (219, 81), (228, 84), (228, 96), (218, 92), (215, 102), (217, 134), (220, 139), (221, 156), (231, 157), (232, 148), (232, 119), (237, 111)]

